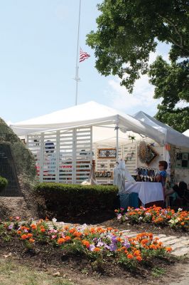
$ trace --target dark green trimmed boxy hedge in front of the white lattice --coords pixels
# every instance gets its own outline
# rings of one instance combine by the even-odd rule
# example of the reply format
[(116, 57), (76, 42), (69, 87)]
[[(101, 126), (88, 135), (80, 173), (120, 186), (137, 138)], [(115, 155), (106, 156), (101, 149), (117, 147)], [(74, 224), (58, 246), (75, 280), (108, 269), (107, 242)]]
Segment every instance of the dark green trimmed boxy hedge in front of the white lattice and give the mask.
[(115, 209), (118, 189), (112, 185), (68, 185), (39, 183), (37, 196), (45, 199), (45, 207), (54, 217), (81, 217)]

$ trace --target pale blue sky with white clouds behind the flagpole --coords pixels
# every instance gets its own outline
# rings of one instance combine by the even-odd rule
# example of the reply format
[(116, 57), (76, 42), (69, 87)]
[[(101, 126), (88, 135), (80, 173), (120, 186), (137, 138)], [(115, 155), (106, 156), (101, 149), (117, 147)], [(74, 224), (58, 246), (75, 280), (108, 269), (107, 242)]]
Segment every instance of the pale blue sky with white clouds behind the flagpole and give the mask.
[[(78, 102), (98, 103), (134, 114), (156, 113), (158, 100), (147, 76), (136, 82), (134, 94), (119, 86), (119, 78), (100, 76), (85, 35), (95, 29), (100, 0), (82, 0), (80, 46), (91, 57), (80, 63)], [(75, 59), (79, 0), (7, 0), (0, 3), (0, 116), (16, 123), (75, 104)], [(157, 54), (167, 58), (168, 46)]]

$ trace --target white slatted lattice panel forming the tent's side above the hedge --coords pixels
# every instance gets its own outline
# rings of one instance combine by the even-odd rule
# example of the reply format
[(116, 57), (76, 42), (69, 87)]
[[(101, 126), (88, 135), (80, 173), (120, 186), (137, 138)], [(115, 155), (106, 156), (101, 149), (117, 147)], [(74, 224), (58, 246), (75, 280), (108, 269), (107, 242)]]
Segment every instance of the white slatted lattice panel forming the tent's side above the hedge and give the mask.
[(81, 183), (92, 165), (92, 128), (28, 135), (41, 182)]

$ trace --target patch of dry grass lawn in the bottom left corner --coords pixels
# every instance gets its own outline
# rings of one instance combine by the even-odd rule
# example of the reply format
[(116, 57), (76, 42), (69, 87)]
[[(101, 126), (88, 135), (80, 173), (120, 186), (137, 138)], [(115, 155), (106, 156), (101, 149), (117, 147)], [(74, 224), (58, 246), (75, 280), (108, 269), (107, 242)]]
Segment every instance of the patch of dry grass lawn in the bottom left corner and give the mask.
[(19, 265), (11, 259), (0, 259), (1, 285), (74, 285), (63, 277), (46, 274), (31, 269), (29, 266)]

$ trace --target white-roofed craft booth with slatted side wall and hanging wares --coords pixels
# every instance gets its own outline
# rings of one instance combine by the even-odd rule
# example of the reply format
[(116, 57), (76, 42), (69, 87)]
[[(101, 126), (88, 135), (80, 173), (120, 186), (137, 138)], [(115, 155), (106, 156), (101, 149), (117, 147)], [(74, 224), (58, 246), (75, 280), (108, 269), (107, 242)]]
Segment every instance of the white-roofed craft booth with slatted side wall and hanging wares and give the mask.
[[(189, 169), (189, 150), (182, 152), (189, 146), (189, 138), (143, 112), (126, 115), (92, 101), (15, 123), (11, 128), (33, 152), (40, 182), (81, 183), (94, 165), (97, 183), (112, 184), (113, 169), (122, 159), (131, 175), (141, 173), (137, 191), (146, 204), (147, 184), (153, 181), (158, 160), (171, 160), (168, 171), (172, 179), (175, 166), (179, 166), (175, 160), (178, 153), (183, 153), (180, 166), (187, 158), (185, 170)], [(133, 191), (134, 184), (128, 183), (126, 191)], [(157, 199), (154, 193), (151, 191), (153, 197), (147, 202)]]

